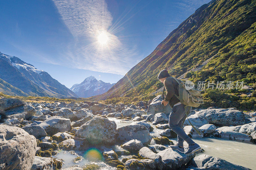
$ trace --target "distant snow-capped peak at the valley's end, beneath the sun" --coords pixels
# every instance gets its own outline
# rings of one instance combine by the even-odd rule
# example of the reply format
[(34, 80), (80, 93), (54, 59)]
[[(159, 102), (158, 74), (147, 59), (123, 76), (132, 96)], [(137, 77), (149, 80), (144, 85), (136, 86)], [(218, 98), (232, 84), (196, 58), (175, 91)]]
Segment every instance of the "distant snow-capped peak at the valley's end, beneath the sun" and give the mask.
[(107, 92), (114, 84), (105, 83), (97, 80), (94, 76), (87, 77), (80, 84), (74, 84), (72, 90), (79, 97), (91, 97)]

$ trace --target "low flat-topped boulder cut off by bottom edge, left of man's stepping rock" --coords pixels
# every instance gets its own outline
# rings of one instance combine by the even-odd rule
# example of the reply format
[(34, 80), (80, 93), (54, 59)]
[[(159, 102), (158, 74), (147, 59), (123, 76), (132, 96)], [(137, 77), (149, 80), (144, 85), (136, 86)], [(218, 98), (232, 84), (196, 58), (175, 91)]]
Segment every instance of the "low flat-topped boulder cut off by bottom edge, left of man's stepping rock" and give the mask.
[(125, 163), (131, 170), (140, 169), (140, 170), (155, 170), (156, 162), (152, 159), (128, 159)]

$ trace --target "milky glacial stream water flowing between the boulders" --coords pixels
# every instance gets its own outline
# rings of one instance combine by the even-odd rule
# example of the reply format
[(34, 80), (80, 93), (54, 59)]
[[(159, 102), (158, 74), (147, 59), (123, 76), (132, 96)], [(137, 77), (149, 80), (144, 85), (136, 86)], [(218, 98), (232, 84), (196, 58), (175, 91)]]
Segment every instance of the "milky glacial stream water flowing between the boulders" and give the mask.
[[(109, 119), (114, 120), (116, 122), (117, 128), (126, 126), (132, 123), (132, 121), (120, 122), (120, 119), (116, 119), (116, 118), (109, 117)], [(154, 134), (154, 136), (160, 136), (158, 132), (161, 130), (156, 129), (155, 126), (152, 124), (151, 126), (154, 127), (154, 131), (150, 133)], [(171, 140), (173, 142), (177, 142), (176, 139), (171, 139)], [(243, 142), (230, 141), (230, 140), (220, 139), (220, 138), (195, 138), (193, 140), (196, 141), (196, 143), (198, 143), (204, 149), (204, 152), (197, 153), (196, 156), (200, 154), (207, 154), (210, 156), (225, 159), (231, 163), (241, 165), (241, 166), (250, 168), (252, 170), (256, 170), (256, 161), (255, 161), (256, 145), (247, 144)], [(186, 147), (186, 142), (184, 142), (184, 146)], [(119, 147), (119, 146), (112, 146), (112, 148), (115, 148), (115, 147)], [(59, 153), (53, 157), (64, 160), (65, 164), (62, 166), (62, 168), (67, 168), (74, 165), (76, 166), (79, 165), (80, 167), (82, 167), (84, 164), (95, 163), (101, 166), (101, 169), (106, 169), (106, 170), (116, 169), (106, 165), (103, 161), (90, 159), (89, 157), (86, 156), (86, 151), (67, 152), (67, 151), (59, 150), (58, 152)], [(83, 157), (83, 159), (78, 163), (74, 163), (73, 159), (76, 158), (77, 156), (81, 156)], [(120, 160), (122, 160), (122, 158), (124, 157), (125, 156), (120, 157)]]

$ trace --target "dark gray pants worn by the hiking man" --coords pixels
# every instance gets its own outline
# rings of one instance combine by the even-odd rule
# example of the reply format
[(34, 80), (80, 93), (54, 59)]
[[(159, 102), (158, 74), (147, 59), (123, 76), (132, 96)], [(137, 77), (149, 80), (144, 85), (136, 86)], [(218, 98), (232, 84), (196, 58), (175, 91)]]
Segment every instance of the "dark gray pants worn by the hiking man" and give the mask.
[(188, 145), (195, 143), (183, 130), (183, 122), (187, 117), (186, 111), (188, 111), (189, 114), (191, 107), (186, 107), (185, 109), (184, 104), (179, 104), (177, 106), (173, 106), (169, 116), (169, 127), (178, 135), (178, 146), (180, 147), (183, 147), (184, 140)]

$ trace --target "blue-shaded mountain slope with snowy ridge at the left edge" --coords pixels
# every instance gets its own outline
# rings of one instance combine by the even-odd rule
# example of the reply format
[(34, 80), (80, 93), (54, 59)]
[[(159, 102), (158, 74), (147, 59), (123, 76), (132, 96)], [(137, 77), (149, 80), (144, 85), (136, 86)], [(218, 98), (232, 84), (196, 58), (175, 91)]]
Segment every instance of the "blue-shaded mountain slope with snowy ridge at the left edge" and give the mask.
[[(0, 90), (12, 95), (78, 97), (66, 86), (53, 79), (47, 72), (37, 69), (18, 57), (1, 52), (0, 79), (2, 80), (0, 81)], [(13, 87), (8, 88), (10, 85)]]

